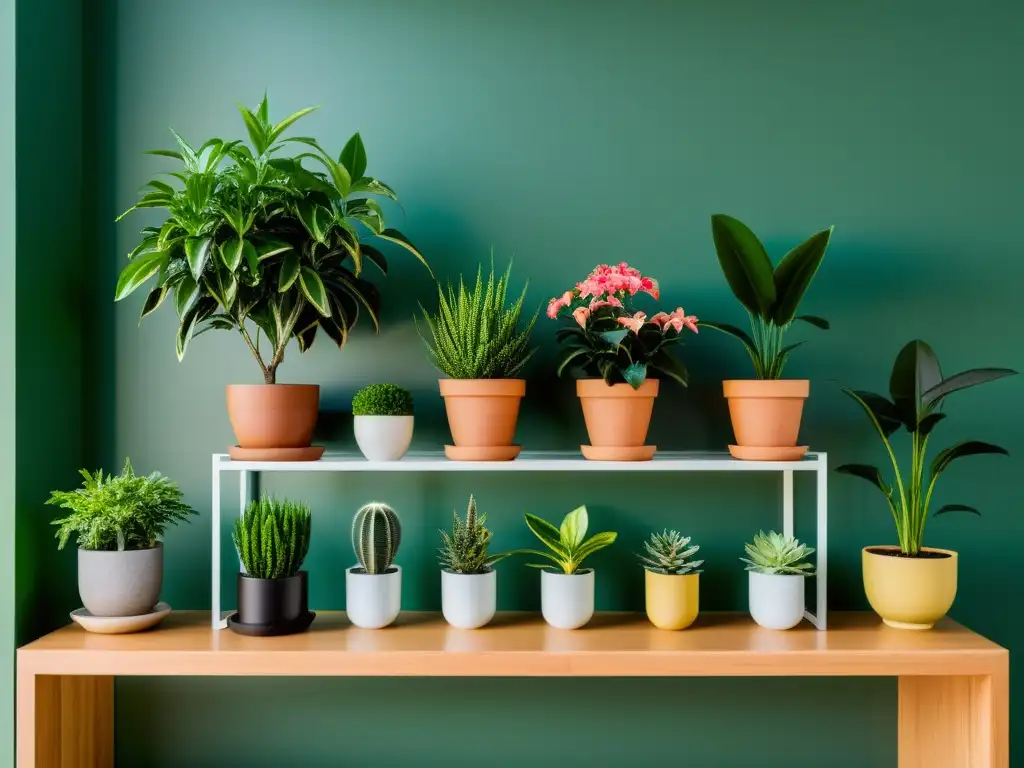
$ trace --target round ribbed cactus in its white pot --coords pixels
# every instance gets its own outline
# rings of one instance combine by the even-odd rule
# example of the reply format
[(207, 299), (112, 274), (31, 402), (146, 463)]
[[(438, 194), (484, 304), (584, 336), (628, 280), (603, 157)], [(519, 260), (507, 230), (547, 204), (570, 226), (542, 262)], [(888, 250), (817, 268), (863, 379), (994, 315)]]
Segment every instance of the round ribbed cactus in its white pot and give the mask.
[(345, 571), (348, 620), (366, 630), (387, 627), (401, 611), (401, 567), (393, 565), (401, 544), (398, 515), (373, 502), (352, 518), (352, 549), (359, 561)]

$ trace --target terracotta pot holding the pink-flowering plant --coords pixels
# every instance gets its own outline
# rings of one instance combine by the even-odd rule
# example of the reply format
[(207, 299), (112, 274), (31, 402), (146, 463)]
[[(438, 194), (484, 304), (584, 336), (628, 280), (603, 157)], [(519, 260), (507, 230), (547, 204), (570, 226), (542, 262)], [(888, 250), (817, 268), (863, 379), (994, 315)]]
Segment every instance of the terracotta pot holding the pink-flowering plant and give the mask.
[[(583, 406), (590, 444), (601, 449), (601, 459), (635, 461), (638, 458), (636, 450), (647, 439), (657, 389), (657, 379), (647, 379), (639, 389), (629, 384), (605, 384), (601, 379), (577, 381), (577, 395)], [(649, 459), (652, 455), (650, 452), (644, 458)], [(587, 456), (586, 451), (584, 456)]]

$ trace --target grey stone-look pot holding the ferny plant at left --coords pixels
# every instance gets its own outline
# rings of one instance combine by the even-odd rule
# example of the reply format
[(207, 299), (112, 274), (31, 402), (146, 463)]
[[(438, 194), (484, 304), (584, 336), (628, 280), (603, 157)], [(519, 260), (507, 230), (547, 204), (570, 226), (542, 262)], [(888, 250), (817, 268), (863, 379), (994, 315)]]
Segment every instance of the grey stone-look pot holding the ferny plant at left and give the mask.
[(153, 549), (78, 551), (78, 594), (94, 616), (148, 613), (164, 586), (164, 545)]

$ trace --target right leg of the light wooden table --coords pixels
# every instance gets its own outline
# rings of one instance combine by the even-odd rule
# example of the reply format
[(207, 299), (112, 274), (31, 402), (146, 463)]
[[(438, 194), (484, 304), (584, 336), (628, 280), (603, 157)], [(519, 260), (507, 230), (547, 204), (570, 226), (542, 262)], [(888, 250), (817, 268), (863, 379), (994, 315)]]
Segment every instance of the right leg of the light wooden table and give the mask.
[(899, 678), (899, 768), (1009, 768), (1010, 670)]

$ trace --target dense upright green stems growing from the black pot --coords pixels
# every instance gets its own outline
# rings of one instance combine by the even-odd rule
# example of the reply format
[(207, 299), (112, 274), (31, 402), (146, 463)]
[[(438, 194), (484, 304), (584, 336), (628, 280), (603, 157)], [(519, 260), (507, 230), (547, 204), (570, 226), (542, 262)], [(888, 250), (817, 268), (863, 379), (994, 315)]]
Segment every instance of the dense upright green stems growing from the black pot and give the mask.
[(301, 502), (260, 497), (234, 521), (231, 540), (246, 574), (289, 579), (309, 552), (312, 515)]

